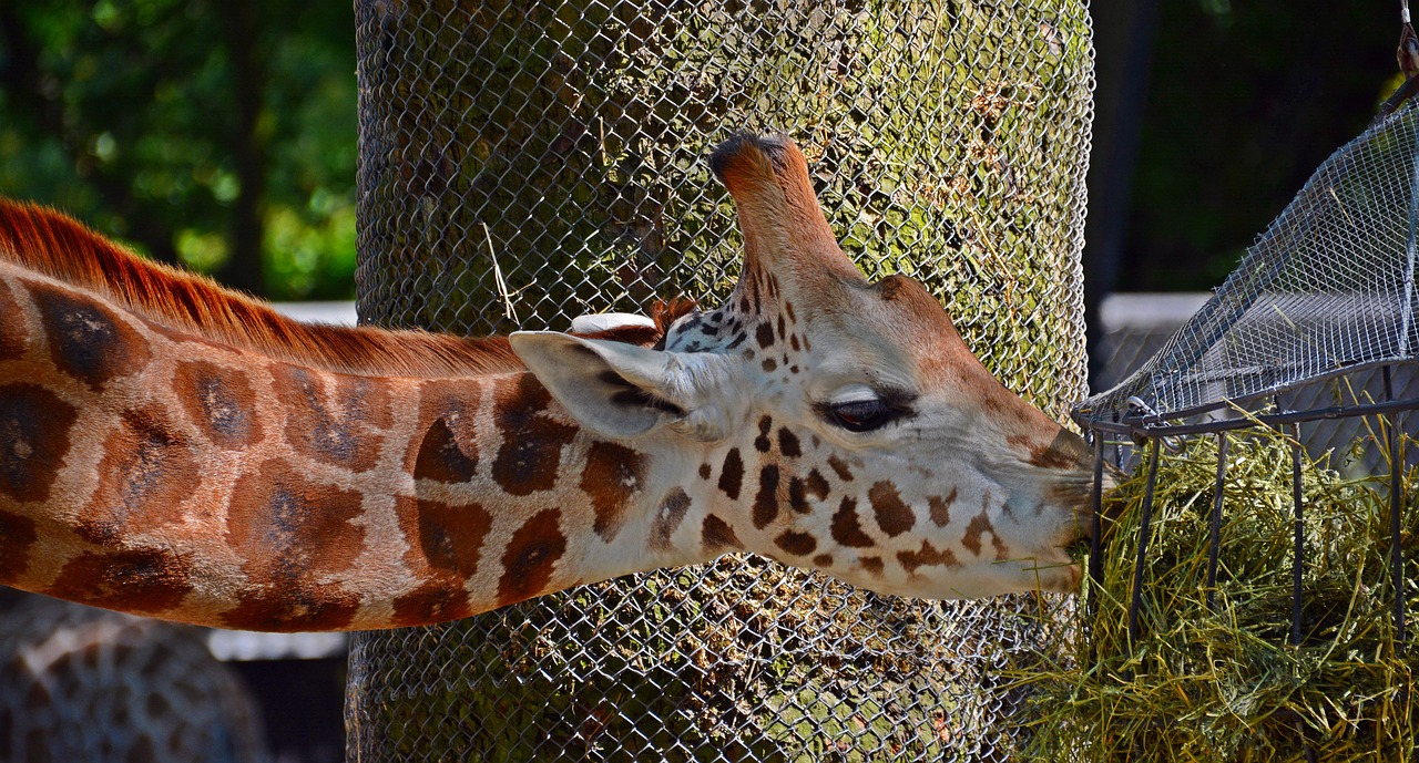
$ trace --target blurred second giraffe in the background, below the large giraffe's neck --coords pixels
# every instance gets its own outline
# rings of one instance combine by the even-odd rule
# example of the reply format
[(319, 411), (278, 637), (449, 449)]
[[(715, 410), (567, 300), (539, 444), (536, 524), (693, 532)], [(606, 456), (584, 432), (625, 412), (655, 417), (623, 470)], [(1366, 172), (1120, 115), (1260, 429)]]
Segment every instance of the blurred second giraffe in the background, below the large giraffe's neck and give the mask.
[(261, 726), (201, 630), (0, 589), (0, 760), (263, 763)]

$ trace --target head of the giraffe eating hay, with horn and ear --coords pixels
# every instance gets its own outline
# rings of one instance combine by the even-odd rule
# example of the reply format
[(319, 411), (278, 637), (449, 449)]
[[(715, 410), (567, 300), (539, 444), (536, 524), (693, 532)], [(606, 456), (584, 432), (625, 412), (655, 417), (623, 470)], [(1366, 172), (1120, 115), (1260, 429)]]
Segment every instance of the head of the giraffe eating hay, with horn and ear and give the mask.
[(1084, 441), (992, 377), (921, 284), (861, 277), (792, 142), (736, 138), (711, 166), (745, 241), (725, 305), (657, 349), (511, 338), (582, 425), (673, 464), (657, 512), (697, 522), (647, 552), (742, 549), (932, 598), (1073, 590)]

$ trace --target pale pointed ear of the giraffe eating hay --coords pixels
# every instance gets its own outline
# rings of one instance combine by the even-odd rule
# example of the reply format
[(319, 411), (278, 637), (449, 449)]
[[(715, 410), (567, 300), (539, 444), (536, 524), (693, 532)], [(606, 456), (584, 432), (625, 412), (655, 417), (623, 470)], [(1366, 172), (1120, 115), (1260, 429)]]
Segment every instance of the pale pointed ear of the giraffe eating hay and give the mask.
[(559, 332), (508, 339), (552, 397), (597, 434), (630, 438), (667, 424), (700, 440), (719, 437), (721, 427), (698, 411), (705, 380), (694, 369), (698, 356)]

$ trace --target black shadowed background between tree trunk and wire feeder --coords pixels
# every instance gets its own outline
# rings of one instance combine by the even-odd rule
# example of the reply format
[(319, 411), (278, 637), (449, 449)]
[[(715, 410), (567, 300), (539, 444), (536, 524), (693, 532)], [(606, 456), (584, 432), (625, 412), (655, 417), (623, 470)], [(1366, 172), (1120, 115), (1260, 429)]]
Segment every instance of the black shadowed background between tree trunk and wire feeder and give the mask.
[(1392, 1), (1115, 0), (1093, 13), (1086, 257), (1110, 261), (1105, 288), (1220, 284), (1399, 85)]

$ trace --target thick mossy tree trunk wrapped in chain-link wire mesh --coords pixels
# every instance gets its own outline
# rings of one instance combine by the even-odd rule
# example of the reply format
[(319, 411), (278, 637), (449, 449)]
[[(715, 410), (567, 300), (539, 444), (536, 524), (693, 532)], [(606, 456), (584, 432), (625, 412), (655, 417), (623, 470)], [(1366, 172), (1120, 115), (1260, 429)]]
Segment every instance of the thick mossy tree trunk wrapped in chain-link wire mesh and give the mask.
[[(1084, 389), (1083, 0), (358, 0), (360, 318), (566, 328), (717, 303), (708, 150), (786, 132), (844, 250), (905, 272), (1012, 389)], [(352, 645), (356, 760), (992, 760), (1034, 598), (881, 598), (758, 557)]]

